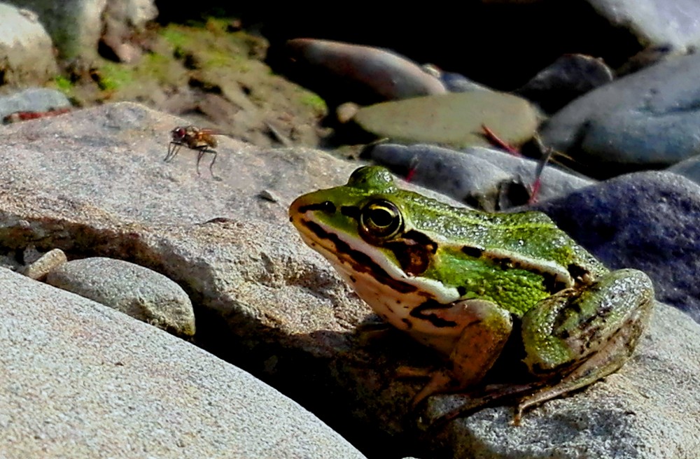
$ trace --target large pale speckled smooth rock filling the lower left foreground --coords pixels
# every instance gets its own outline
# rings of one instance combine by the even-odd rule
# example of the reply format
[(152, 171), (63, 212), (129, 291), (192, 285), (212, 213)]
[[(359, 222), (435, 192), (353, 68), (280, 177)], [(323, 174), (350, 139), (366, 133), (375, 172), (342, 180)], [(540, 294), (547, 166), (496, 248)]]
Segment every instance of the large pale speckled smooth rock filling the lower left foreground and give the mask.
[(362, 458), (250, 374), (0, 269), (3, 458)]

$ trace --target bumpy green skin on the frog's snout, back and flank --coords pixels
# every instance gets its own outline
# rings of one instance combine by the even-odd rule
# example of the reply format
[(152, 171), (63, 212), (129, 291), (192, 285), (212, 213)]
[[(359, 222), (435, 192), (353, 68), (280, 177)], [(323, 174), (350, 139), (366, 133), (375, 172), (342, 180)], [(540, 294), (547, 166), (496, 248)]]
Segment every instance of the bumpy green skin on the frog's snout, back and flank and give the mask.
[[(419, 276), (454, 288), (464, 287), (462, 299), (488, 299), (521, 316), (539, 299), (569, 286), (562, 278), (552, 279), (549, 272), (543, 276), (538, 272), (541, 269), (533, 265), (547, 263), (552, 269), (558, 267), (557, 272), (563, 271), (559, 277), (584, 274), (597, 277), (607, 271), (544, 213), (493, 214), (457, 209), (398, 189), (391, 174), (379, 167), (358, 169), (347, 185), (300, 197), (296, 209), (308, 205), (304, 203), (332, 202), (339, 208), (337, 212), (318, 211), (314, 219), (356, 238), (358, 222), (347, 209), (355, 209), (356, 213), (372, 199), (388, 199), (398, 207), (404, 236), (412, 230), (431, 235), (437, 249), (430, 255), (432, 262)], [(392, 241), (382, 241), (383, 246), (378, 248), (388, 259), (400, 264), (406, 239), (409, 238), (398, 236)], [(571, 276), (566, 271), (569, 265), (587, 267), (588, 271)], [(563, 285), (547, 285), (547, 282), (563, 282)]]

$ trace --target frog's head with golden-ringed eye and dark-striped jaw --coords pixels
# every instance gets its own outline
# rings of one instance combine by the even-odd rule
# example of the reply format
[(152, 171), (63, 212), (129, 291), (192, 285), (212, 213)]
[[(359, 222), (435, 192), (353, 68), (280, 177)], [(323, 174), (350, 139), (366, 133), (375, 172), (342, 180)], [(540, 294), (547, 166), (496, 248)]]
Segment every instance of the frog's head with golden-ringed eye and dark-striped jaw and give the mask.
[(421, 276), (437, 248), (413, 224), (414, 213), (430, 213), (425, 199), (397, 188), (384, 167), (361, 167), (346, 185), (298, 197), (289, 216), (304, 242), (370, 305), (381, 295), (382, 301), (401, 299), (402, 304), (412, 296), (415, 302), (446, 303), (459, 296), (456, 290)]

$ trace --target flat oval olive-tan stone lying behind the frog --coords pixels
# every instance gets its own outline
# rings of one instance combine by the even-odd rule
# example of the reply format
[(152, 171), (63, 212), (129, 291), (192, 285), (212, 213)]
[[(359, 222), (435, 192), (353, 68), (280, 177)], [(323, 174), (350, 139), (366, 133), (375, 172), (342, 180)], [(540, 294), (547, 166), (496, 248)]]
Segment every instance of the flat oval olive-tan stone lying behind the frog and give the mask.
[(538, 116), (525, 99), (493, 91), (455, 92), (361, 108), (354, 120), (377, 137), (398, 143), (454, 148), (489, 146), (486, 126), (517, 146), (532, 138)]

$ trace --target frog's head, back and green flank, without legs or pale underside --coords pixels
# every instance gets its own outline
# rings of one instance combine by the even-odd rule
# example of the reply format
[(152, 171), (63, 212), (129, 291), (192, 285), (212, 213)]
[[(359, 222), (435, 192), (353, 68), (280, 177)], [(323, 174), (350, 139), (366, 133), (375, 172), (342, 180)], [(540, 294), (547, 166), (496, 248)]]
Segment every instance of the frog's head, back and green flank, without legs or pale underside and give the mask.
[[(363, 215), (373, 206), (384, 209), (381, 216), (395, 213), (395, 230), (367, 233)], [(522, 315), (540, 299), (607, 271), (544, 213), (456, 208), (400, 190), (381, 167), (357, 169), (346, 185), (297, 198), (291, 214), (309, 220), (296, 221), (309, 238), (327, 244), (336, 266), (349, 269), (353, 259), (352, 269), (372, 271), (377, 283), (421, 290), (423, 302), (486, 299)]]

